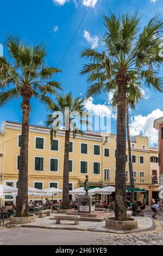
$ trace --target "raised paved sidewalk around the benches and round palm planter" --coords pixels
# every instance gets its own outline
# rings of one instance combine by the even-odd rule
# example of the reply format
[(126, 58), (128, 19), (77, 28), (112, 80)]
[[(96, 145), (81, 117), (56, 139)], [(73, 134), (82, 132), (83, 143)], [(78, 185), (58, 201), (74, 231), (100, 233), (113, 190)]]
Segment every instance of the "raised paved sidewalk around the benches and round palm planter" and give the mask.
[[(36, 217), (36, 221), (33, 223), (16, 225), (15, 227), (94, 231), (94, 232), (96, 231), (96, 232), (116, 233), (116, 234), (135, 233), (135, 232), (155, 229), (155, 222), (152, 221), (151, 217), (134, 217), (138, 222), (138, 229), (131, 230), (131, 231), (123, 231), (123, 230), (111, 230), (111, 229), (105, 228), (105, 221), (103, 222), (79, 221), (79, 225), (74, 225), (73, 221), (61, 221), (61, 224), (55, 224), (55, 220), (49, 219), (49, 218), (53, 218), (53, 216), (54, 214), (51, 214), (51, 217), (49, 216), (45, 216), (43, 218)], [(9, 224), (8, 224), (8, 227), (14, 228), (13, 225), (9, 225)]]

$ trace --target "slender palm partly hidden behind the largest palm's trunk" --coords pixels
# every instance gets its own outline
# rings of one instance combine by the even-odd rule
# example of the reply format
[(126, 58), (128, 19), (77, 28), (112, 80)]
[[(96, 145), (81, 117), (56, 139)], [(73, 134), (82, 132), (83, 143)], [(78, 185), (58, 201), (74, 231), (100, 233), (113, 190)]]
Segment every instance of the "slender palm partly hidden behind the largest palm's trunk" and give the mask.
[[(112, 106), (117, 107), (118, 90), (116, 90), (112, 96)], [(131, 159), (131, 144), (130, 144), (130, 131), (129, 131), (129, 108), (134, 109), (135, 104), (142, 99), (142, 92), (140, 88), (140, 82), (131, 81), (127, 86), (127, 101), (126, 101), (126, 130), (127, 130), (127, 142), (128, 142), (128, 166), (131, 186), (131, 202), (134, 203), (134, 174), (133, 174), (133, 162)]]

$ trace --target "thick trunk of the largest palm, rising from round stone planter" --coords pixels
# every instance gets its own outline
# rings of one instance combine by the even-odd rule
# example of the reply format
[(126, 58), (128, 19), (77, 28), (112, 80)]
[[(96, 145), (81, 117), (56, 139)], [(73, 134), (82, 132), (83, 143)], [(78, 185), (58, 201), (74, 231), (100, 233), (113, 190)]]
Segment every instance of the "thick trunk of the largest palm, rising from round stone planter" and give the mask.
[(126, 219), (126, 93), (129, 76), (120, 71), (116, 77), (118, 86), (117, 104), (117, 149), (116, 149), (116, 188), (115, 220)]

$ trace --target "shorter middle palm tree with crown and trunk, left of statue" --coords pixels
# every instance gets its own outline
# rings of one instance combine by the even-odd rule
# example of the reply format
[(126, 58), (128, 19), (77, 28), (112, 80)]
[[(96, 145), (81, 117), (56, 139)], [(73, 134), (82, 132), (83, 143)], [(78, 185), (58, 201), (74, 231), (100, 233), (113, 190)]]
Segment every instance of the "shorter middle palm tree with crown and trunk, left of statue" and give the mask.
[[(70, 199), (69, 199), (69, 145), (70, 145), (70, 136), (73, 138), (77, 134), (83, 135), (83, 132), (80, 130), (80, 127), (76, 126), (76, 118), (74, 114), (79, 113), (79, 122), (81, 124), (82, 112), (84, 112), (84, 103), (85, 100), (82, 97), (76, 97), (73, 99), (71, 93), (66, 95), (59, 95), (57, 97), (57, 103), (49, 103), (48, 110), (51, 112), (46, 121), (46, 125), (52, 125), (54, 121), (63, 123), (65, 127), (65, 151), (64, 151), (64, 173), (63, 173), (63, 196), (62, 196), (62, 209), (70, 208)], [(60, 112), (61, 118), (57, 115), (54, 117), (54, 112)], [(63, 119), (63, 120), (61, 120)], [(55, 136), (56, 131), (59, 129), (59, 126), (52, 126), (51, 128), (51, 143), (53, 140), (53, 135)]]

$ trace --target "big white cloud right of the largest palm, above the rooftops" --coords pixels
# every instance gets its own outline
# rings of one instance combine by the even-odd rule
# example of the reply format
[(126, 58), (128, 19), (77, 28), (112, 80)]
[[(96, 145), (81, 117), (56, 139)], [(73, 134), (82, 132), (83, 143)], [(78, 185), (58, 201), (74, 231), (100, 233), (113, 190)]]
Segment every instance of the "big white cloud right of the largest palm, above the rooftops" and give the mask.
[(158, 131), (153, 128), (153, 121), (163, 116), (163, 111), (155, 109), (148, 115), (134, 115), (131, 117), (130, 136), (140, 135), (150, 136), (151, 143), (158, 143)]

